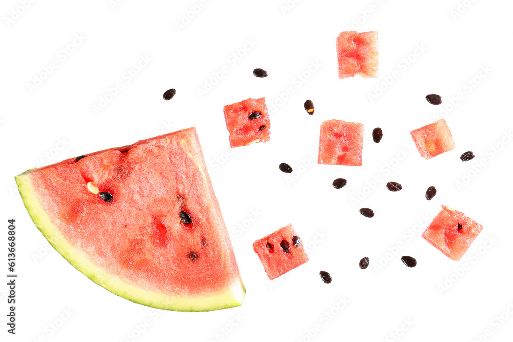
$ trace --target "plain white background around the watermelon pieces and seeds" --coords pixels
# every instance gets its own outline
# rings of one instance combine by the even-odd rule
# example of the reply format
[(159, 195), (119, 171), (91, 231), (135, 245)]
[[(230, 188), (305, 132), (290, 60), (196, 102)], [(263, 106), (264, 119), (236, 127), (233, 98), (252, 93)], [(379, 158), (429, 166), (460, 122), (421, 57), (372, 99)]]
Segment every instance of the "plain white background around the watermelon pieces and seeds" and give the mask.
[[(19, 274), (15, 336), (6, 332), (7, 287), (0, 282), (2, 340), (473, 341), (487, 329), (490, 336), (481, 340), (511, 338), (511, 314), (503, 315), (509, 320), (502, 324), (495, 318), (508, 306), (513, 313), (507, 218), (511, 2), (303, 0), (289, 1), (294, 6), (284, 12), (285, 0), (218, 0), (202, 2), (194, 15), (189, 11), (198, 11), (199, 0), (120, 0), (120, 6), (108, 0), (26, 1), (26, 9), (21, 3), (6, 0), (0, 9), (0, 245), (6, 259), (7, 219), (15, 218)], [(188, 13), (193, 18), (177, 28)], [(379, 32), (376, 79), (337, 78), (335, 38), (353, 28)], [(234, 53), (244, 56), (237, 61)], [(127, 82), (127, 70), (141, 56), (151, 61), (135, 68), (139, 73)], [(53, 61), (57, 67), (45, 75)], [(228, 72), (213, 79), (223, 66)], [(257, 67), (269, 76), (254, 77)], [(31, 89), (37, 77), (45, 79)], [(215, 85), (201, 97), (198, 88), (211, 80)], [(123, 89), (106, 96), (118, 82)], [(369, 94), (379, 87), (386, 89), (371, 102)], [(177, 94), (166, 102), (162, 93), (169, 88)], [(287, 88), (290, 95), (280, 101)], [(431, 93), (440, 94), (443, 104), (427, 103)], [(223, 106), (262, 96), (277, 107), (271, 110), (271, 141), (230, 150)], [(110, 101), (95, 113), (93, 105), (105, 97)], [(303, 109), (307, 99), (315, 104), (313, 116)], [(440, 115), (457, 149), (424, 160), (409, 131)], [(319, 126), (329, 119), (365, 124), (363, 166), (316, 163)], [(215, 312), (152, 310), (94, 284), (49, 248), (23, 207), (14, 176), (190, 126), (198, 129), (246, 299)], [(379, 144), (372, 141), (374, 127), (384, 132)], [(468, 150), (476, 158), (463, 163), (459, 156)], [(401, 153), (406, 157), (396, 159)], [(280, 172), (282, 162), (298, 172)], [(347, 185), (335, 190), (331, 182), (339, 177)], [(389, 180), (403, 190), (389, 192)], [(438, 193), (427, 202), (431, 185)], [(351, 203), (359, 192), (366, 195)], [(423, 217), (434, 216), (442, 204), (484, 226), (459, 262), (420, 237)], [(361, 207), (376, 216), (363, 217)], [(258, 218), (249, 224), (252, 211)], [(310, 261), (271, 283), (251, 244), (288, 223), (309, 247)], [(402, 255), (415, 257), (417, 267), (405, 267)], [(370, 266), (360, 270), (364, 256)], [(380, 261), (383, 268), (376, 269)], [(6, 264), (0, 260), (3, 278)], [(321, 281), (320, 270), (331, 273), (331, 284)], [(348, 304), (338, 309), (344, 297)]]

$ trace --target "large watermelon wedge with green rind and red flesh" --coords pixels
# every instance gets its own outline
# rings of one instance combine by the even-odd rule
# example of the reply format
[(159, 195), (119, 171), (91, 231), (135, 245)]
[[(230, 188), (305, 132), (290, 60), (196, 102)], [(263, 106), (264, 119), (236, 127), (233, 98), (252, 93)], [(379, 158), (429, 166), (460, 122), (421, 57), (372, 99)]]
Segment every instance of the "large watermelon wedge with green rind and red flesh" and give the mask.
[(28, 170), (16, 183), (50, 244), (107, 290), (176, 311), (242, 304), (194, 128)]

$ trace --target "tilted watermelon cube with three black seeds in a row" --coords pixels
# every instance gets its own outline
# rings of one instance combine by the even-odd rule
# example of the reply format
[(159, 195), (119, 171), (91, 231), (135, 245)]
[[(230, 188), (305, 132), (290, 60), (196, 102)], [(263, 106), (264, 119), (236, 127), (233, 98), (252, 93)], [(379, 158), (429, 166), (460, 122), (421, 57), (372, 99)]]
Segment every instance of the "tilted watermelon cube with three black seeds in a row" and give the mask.
[(271, 280), (308, 261), (303, 242), (292, 224), (255, 241), (253, 249)]

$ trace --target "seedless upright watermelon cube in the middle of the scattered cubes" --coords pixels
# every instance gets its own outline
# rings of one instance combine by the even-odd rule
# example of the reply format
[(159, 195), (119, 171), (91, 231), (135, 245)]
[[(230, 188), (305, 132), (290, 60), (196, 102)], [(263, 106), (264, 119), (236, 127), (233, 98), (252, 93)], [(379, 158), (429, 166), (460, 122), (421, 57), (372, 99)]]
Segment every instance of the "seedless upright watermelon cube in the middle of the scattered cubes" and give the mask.
[(321, 124), (318, 164), (362, 165), (363, 124), (330, 120)]

